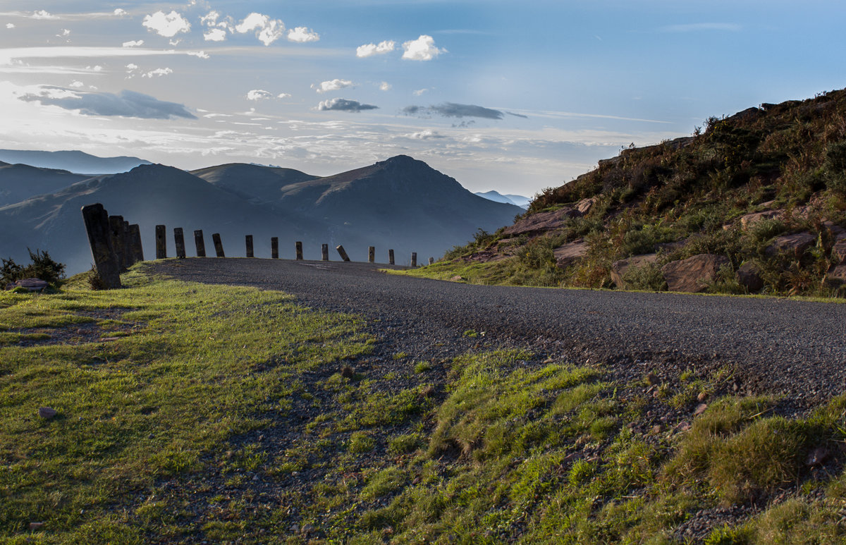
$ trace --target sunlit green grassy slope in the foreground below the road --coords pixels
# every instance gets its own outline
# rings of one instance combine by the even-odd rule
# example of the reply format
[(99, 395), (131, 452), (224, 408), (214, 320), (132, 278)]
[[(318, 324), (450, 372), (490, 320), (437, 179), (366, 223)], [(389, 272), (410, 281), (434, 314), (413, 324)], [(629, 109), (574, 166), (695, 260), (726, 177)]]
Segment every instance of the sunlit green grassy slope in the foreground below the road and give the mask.
[[(709, 542), (846, 537), (846, 399), (787, 420), (717, 400), (728, 375), (647, 389), (519, 351), (380, 368), (355, 317), (142, 270), (0, 294), (0, 542), (672, 542), (753, 504)], [(688, 432), (652, 430), (699, 394)]]

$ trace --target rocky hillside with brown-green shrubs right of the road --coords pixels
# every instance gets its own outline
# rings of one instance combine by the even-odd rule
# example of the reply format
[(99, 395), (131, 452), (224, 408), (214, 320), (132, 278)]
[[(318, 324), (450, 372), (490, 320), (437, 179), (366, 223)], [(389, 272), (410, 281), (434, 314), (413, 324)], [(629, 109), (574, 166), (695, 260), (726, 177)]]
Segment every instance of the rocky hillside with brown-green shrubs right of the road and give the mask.
[(440, 267), (481, 282), (843, 295), (844, 210), (846, 91), (832, 91), (624, 149)]

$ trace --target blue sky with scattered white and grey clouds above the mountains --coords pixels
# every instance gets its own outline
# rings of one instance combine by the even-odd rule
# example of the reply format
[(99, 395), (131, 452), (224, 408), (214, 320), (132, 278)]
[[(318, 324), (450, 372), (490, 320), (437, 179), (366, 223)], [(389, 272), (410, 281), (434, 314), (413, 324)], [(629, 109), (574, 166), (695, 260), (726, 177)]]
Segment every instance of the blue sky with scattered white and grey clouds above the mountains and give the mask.
[(0, 148), (329, 175), (405, 154), (531, 196), (846, 87), (846, 3), (0, 0)]

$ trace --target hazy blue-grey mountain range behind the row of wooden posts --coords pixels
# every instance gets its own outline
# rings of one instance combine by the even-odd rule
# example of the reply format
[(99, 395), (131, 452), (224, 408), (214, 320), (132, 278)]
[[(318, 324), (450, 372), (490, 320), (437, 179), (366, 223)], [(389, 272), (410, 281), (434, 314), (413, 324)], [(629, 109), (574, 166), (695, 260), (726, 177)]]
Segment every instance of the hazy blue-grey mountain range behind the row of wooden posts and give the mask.
[[(20, 199), (15, 201), (15, 199)], [(244, 256), (244, 235), (254, 236), (255, 256), (270, 257), (279, 238), (282, 257), (302, 241), (306, 259), (319, 259), (322, 243), (343, 245), (354, 261), (376, 246), (376, 261), (393, 248), (398, 264), (412, 251), (419, 261), (440, 257), (473, 238), (495, 231), (523, 210), (473, 195), (425, 162), (398, 156), (328, 177), (290, 168), (232, 163), (185, 172), (144, 164), (126, 173), (87, 177), (49, 168), (0, 165), (0, 256), (26, 261), (26, 248), (47, 250), (68, 272), (91, 267), (80, 208), (101, 202), (109, 214), (140, 223), (145, 256), (155, 254), (154, 228), (184, 228), (188, 255), (193, 231), (203, 229), (206, 251), (220, 233), (227, 256)]]

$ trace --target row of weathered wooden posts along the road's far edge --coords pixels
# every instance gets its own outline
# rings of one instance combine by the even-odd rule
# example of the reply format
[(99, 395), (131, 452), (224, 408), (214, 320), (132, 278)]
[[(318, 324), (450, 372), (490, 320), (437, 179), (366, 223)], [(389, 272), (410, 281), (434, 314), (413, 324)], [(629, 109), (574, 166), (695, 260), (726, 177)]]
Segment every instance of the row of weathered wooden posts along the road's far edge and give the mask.
[[(109, 216), (102, 204), (82, 207), (82, 217), (85, 221), (85, 230), (88, 233), (88, 242), (91, 245), (91, 256), (94, 258), (94, 268), (101, 284), (106, 289), (119, 288), (120, 272), (134, 265), (137, 261), (144, 261), (144, 250), (141, 246), (141, 232), (137, 223), (132, 225), (124, 221), (123, 216)], [(219, 233), (211, 235), (217, 257), (226, 257), (223, 252), (223, 242)], [(176, 247), (176, 256), (185, 257), (185, 237), (181, 227), (173, 229), (173, 242)], [(253, 235), (245, 237), (246, 256), (254, 257)], [(206, 257), (206, 243), (203, 239), (202, 229), (194, 232), (194, 245), (197, 257)], [(270, 239), (271, 256), (273, 259), (279, 257), (279, 238)], [(294, 243), (296, 259), (303, 259), (303, 243)], [(336, 246), (338, 255), (343, 261), (349, 261), (349, 256), (343, 245)], [(164, 225), (156, 226), (156, 259), (168, 257), (167, 230)], [(393, 249), (387, 250), (388, 263), (394, 264)], [(321, 260), (329, 261), (329, 245), (321, 245)], [(376, 262), (376, 247), (369, 246), (367, 249), (367, 261)], [(434, 262), (429, 258), (429, 264)], [(417, 252), (411, 252), (411, 267), (417, 267)]]

